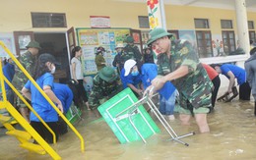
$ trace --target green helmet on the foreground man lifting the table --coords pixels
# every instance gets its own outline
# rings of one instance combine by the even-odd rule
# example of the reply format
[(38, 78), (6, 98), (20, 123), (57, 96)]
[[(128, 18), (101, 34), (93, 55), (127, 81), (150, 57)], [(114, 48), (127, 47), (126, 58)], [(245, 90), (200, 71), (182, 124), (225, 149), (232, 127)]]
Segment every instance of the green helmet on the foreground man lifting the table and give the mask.
[(172, 36), (172, 33), (167, 32), (165, 29), (162, 27), (157, 27), (154, 28), (153, 30), (150, 31), (150, 39), (148, 40), (147, 44), (151, 45), (154, 41), (158, 40), (159, 38), (163, 36)]

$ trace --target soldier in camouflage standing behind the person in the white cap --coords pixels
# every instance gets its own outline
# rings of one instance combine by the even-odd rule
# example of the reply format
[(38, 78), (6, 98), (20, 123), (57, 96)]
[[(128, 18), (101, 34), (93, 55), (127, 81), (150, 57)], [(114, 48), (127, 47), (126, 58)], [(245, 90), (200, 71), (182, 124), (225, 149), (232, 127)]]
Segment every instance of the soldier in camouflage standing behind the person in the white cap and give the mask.
[(129, 59), (133, 59), (138, 64), (141, 64), (140, 62), (142, 61), (142, 54), (141, 54), (139, 48), (136, 45), (134, 45), (133, 37), (127, 36), (126, 43), (127, 43), (127, 45), (124, 47), (124, 49), (123, 49), (124, 52), (121, 56), (122, 64), (124, 64)]

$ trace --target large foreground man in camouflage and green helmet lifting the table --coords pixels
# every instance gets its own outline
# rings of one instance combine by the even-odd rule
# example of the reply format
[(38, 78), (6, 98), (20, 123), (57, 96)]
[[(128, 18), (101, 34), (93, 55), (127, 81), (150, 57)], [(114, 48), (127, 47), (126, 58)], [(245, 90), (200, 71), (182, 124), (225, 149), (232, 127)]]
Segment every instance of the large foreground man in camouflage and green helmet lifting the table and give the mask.
[(171, 41), (172, 34), (163, 28), (153, 29), (150, 36), (148, 45), (152, 46), (158, 56), (159, 76), (146, 91), (153, 86), (153, 90), (159, 90), (170, 80), (180, 93), (178, 112), (181, 123), (189, 125), (191, 115), (194, 115), (200, 133), (209, 133), (207, 113), (212, 107), (213, 84), (192, 45), (185, 40)]

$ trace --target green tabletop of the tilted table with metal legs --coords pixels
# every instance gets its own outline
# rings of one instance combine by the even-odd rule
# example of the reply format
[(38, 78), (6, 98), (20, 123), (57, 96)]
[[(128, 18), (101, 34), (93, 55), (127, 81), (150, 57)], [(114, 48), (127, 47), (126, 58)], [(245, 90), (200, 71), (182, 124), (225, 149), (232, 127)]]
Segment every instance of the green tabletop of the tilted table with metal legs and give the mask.
[(120, 143), (143, 140), (159, 127), (130, 88), (116, 94), (97, 109)]

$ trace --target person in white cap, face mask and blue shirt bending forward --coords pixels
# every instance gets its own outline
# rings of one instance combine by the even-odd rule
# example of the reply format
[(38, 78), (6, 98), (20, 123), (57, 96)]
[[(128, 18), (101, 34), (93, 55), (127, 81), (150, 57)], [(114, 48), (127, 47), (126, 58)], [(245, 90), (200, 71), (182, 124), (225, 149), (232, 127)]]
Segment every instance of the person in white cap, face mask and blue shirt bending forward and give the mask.
[(124, 89), (130, 87), (137, 97), (143, 95), (142, 78), (135, 60), (129, 59), (124, 63), (120, 79)]

